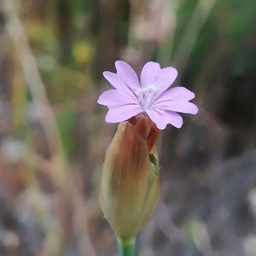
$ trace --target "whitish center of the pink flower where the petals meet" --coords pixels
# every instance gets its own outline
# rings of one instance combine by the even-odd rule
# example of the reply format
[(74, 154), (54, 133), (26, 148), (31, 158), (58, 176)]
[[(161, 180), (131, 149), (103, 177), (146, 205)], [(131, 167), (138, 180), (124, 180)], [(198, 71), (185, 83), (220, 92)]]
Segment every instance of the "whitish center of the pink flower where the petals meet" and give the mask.
[(140, 87), (134, 91), (141, 107), (146, 110), (154, 103), (154, 95), (160, 85), (152, 83), (145, 87)]

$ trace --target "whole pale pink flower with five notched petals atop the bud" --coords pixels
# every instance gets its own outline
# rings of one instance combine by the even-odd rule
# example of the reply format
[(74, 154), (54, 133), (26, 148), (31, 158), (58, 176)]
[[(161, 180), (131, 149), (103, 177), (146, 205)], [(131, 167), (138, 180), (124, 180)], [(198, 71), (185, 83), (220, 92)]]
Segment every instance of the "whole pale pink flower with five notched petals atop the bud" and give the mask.
[(145, 112), (163, 130), (167, 124), (180, 128), (182, 117), (176, 113), (198, 113), (198, 107), (189, 102), (195, 94), (184, 87), (169, 86), (177, 77), (173, 67), (161, 69), (156, 62), (147, 62), (141, 73), (140, 82), (134, 70), (124, 61), (116, 61), (116, 73), (103, 72), (103, 76), (116, 89), (99, 96), (98, 103), (108, 107), (106, 122), (125, 121), (138, 113)]

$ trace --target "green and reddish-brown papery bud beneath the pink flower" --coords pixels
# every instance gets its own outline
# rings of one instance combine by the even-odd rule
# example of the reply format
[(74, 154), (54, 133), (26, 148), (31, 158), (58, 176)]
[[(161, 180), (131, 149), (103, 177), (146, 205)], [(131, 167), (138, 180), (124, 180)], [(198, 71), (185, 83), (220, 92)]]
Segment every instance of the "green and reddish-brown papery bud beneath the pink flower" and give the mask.
[(133, 238), (153, 213), (159, 190), (160, 130), (139, 114), (118, 125), (102, 172), (100, 201), (119, 238)]

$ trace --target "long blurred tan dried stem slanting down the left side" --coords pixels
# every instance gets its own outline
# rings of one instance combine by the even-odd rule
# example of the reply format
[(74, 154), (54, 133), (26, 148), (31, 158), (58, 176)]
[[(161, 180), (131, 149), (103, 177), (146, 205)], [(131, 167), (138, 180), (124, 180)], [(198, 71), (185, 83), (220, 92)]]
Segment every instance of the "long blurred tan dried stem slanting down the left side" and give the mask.
[[(79, 189), (76, 188), (75, 181), (72, 179), (70, 173), (70, 167), (64, 157), (55, 115), (49, 104), (47, 92), (38, 70), (38, 64), (29, 46), (26, 31), (19, 18), (15, 1), (3, 0), (0, 8), (3, 10), (6, 17), (6, 29), (22, 66), (39, 122), (44, 129), (49, 150), (51, 151), (52, 159), (49, 161), (49, 176), (55, 184), (56, 189), (58, 189), (58, 193), (60, 193), (61, 196), (68, 195), (69, 201), (73, 207), (74, 218), (78, 218), (80, 221), (79, 225), (74, 221), (74, 230), (78, 236), (81, 253), (83, 255), (95, 256), (96, 253), (94, 252), (87, 230), (85, 200)], [(66, 193), (64, 193), (65, 189)], [(48, 237), (52, 237), (55, 232), (56, 230), (50, 230)], [(57, 235), (59, 236), (58, 229)], [(58, 248), (55, 248), (55, 250), (58, 250)], [(46, 253), (49, 251), (53, 253), (51, 255), (56, 255), (57, 253), (57, 251), (52, 252), (50, 248), (46, 248)]]

